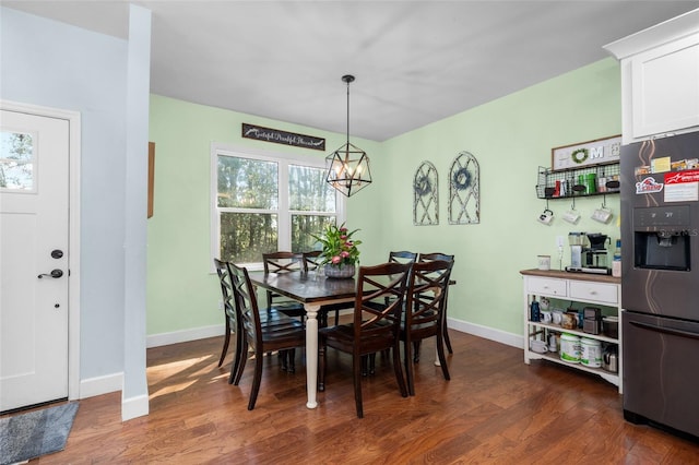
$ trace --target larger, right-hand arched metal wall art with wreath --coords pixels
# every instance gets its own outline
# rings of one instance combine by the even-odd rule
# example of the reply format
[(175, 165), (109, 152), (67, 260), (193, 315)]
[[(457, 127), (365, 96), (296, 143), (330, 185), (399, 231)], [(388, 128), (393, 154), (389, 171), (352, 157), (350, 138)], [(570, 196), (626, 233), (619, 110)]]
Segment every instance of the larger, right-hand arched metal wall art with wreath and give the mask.
[(481, 223), (479, 168), (476, 157), (461, 152), (449, 170), (449, 224)]

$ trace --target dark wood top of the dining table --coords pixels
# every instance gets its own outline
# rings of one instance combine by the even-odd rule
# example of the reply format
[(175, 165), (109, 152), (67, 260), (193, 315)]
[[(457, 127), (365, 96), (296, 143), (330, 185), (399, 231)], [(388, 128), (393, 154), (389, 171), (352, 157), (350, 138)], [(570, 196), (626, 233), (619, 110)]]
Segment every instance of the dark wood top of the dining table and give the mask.
[(350, 300), (356, 295), (354, 278), (328, 278), (315, 271), (303, 273), (249, 272), (252, 284), (303, 303)]

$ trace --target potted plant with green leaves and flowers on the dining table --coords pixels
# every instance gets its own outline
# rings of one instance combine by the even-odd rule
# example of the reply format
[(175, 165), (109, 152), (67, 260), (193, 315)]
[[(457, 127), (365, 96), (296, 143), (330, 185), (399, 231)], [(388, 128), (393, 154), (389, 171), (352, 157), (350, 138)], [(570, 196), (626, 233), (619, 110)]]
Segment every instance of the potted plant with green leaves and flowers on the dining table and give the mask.
[(329, 225), (322, 235), (312, 235), (322, 246), (320, 264), (328, 277), (352, 277), (355, 273), (355, 264), (359, 261), (360, 240), (355, 240), (352, 236), (358, 231), (350, 231), (345, 224), (337, 227)]

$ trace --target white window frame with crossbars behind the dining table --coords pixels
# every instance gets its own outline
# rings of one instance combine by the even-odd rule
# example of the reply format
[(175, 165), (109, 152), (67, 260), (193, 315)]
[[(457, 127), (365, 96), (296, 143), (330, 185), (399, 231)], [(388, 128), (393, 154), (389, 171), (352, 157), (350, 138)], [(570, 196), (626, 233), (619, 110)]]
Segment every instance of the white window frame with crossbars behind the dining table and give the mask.
[[(279, 199), (277, 211), (273, 210), (256, 210), (256, 213), (271, 213), (277, 215), (279, 236), (277, 250), (291, 250), (292, 241), (292, 216), (293, 215), (327, 215), (335, 216), (335, 222), (341, 225), (345, 222), (346, 198), (340, 192), (335, 194), (335, 213), (318, 211), (289, 211), (288, 199), (288, 167), (289, 165), (308, 166), (312, 168), (327, 169), (324, 156), (298, 155), (283, 152), (268, 152), (249, 147), (238, 147), (228, 144), (212, 143), (211, 144), (211, 176), (210, 176), (210, 198), (211, 205), (211, 228), (210, 228), (210, 254), (209, 263), (211, 272), (214, 273), (213, 259), (218, 258), (221, 248), (221, 208), (218, 207), (218, 156), (233, 156), (250, 159), (259, 159), (263, 162), (273, 162), (277, 164), (279, 172)], [(247, 213), (250, 210), (240, 207), (225, 208), (232, 213)], [(262, 270), (262, 261), (251, 263), (240, 263), (240, 265), (249, 270)]]

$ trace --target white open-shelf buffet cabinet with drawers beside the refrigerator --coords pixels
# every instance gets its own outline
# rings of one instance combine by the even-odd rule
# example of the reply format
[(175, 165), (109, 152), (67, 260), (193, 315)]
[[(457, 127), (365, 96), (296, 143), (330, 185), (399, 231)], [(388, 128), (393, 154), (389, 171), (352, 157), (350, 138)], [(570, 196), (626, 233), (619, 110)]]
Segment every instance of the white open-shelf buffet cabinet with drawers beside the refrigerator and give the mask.
[[(621, 360), (621, 279), (606, 275), (560, 271), (523, 270), (520, 273), (524, 277), (524, 362), (530, 365), (531, 360), (548, 360), (594, 373), (618, 386), (620, 394), (623, 392), (621, 373), (624, 368)], [(580, 302), (583, 306), (589, 305), (591, 307), (604, 306), (607, 310), (605, 315), (617, 315), (619, 318), (618, 337), (608, 337), (602, 333), (590, 334), (581, 329), (567, 330), (554, 323), (530, 321), (530, 305), (534, 299), (541, 302), (542, 297), (566, 302)], [(618, 372), (606, 371), (603, 368), (587, 367), (581, 363), (571, 363), (561, 360), (559, 353), (547, 351), (541, 354), (531, 350), (531, 339), (546, 341), (550, 332), (568, 333), (596, 339), (603, 344), (616, 345)]]

